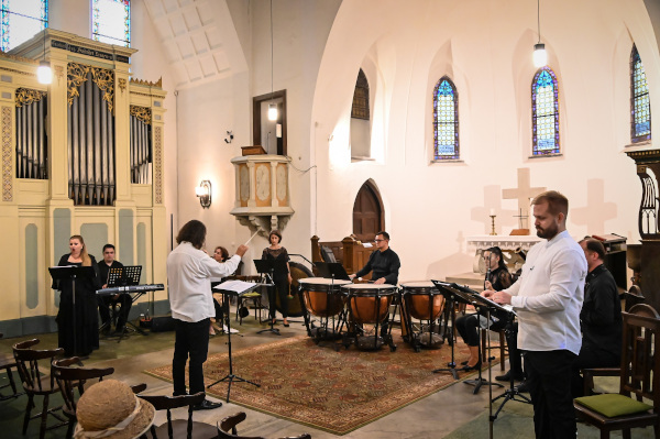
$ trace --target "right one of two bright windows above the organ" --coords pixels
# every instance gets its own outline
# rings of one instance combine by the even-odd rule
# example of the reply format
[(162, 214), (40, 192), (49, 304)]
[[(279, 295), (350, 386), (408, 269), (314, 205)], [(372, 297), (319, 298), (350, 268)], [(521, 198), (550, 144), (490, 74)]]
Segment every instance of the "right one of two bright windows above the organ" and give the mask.
[(131, 46), (131, 0), (94, 0), (92, 37), (118, 46)]

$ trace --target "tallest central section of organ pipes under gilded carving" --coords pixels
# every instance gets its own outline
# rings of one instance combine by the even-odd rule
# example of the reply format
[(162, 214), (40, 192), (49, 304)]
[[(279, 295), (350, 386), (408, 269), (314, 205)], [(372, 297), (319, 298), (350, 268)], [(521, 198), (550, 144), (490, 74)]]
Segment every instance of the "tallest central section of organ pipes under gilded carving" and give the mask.
[(69, 198), (75, 205), (114, 201), (114, 73), (68, 65)]

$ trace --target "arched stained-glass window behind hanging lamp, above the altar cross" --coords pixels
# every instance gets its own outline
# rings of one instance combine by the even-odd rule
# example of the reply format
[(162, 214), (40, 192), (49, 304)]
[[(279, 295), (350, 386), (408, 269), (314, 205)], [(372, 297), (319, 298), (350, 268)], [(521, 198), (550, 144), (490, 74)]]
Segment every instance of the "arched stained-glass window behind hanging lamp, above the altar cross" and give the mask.
[(559, 86), (550, 67), (531, 83), (532, 155), (559, 154)]

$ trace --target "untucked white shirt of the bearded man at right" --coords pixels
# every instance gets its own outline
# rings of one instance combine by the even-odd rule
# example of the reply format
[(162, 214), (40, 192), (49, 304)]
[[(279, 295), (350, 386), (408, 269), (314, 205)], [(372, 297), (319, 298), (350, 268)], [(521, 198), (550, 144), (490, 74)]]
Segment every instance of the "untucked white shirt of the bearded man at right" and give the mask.
[(520, 278), (506, 293), (518, 315), (518, 348), (580, 353), (580, 310), (586, 259), (568, 231), (534, 245)]

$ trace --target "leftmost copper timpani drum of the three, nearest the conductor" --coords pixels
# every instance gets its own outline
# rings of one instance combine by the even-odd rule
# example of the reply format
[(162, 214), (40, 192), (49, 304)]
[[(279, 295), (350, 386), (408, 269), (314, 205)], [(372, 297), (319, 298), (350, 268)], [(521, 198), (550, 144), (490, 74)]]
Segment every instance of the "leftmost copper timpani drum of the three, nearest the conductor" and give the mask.
[[(307, 277), (298, 281), (300, 300), (309, 315), (320, 320), (320, 327), (312, 328), (306, 318), (308, 333), (315, 340), (337, 340), (340, 334), (344, 315), (345, 295), (341, 287), (351, 281), (329, 279), (323, 277)], [(336, 318), (337, 317), (337, 318)]]

